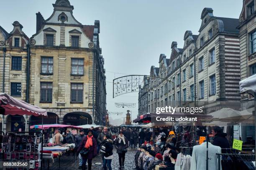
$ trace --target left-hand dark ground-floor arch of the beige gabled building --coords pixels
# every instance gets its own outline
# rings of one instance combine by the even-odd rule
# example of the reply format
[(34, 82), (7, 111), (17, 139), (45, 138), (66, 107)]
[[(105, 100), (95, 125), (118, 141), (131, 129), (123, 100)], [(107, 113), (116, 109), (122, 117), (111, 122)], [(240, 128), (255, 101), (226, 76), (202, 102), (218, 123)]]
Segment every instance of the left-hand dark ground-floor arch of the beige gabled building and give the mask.
[[(31, 116), (30, 117), (30, 125), (41, 125), (42, 124), (42, 116)], [(44, 116), (44, 125), (49, 124), (59, 124), (59, 116), (53, 112), (47, 112), (47, 117)]]

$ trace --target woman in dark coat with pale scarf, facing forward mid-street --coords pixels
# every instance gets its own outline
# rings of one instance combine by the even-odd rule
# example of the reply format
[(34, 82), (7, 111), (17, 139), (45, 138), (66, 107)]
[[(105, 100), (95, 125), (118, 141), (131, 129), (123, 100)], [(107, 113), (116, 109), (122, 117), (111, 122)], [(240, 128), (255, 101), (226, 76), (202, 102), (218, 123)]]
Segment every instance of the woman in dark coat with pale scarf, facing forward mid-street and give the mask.
[(119, 170), (121, 170), (124, 168), (125, 149), (128, 148), (128, 140), (123, 135), (122, 130), (119, 131), (118, 138), (115, 140), (115, 148), (119, 158)]

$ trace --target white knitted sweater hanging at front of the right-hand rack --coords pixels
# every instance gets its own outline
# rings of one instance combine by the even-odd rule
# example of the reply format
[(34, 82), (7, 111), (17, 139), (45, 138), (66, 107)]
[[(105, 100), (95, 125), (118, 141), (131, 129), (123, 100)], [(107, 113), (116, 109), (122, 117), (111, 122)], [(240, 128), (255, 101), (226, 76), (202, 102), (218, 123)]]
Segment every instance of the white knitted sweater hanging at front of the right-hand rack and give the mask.
[[(208, 143), (208, 170), (218, 170), (218, 156), (221, 153), (219, 146)], [(206, 142), (193, 147), (190, 170), (206, 170)], [(221, 166), (220, 166), (221, 170)]]

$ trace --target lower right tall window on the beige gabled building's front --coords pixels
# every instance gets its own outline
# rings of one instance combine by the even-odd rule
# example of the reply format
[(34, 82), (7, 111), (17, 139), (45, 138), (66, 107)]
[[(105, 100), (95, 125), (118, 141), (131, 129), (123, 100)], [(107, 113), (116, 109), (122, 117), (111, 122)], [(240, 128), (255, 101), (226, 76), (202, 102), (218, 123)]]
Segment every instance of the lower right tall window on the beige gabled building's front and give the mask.
[(71, 83), (71, 102), (83, 102), (83, 83)]

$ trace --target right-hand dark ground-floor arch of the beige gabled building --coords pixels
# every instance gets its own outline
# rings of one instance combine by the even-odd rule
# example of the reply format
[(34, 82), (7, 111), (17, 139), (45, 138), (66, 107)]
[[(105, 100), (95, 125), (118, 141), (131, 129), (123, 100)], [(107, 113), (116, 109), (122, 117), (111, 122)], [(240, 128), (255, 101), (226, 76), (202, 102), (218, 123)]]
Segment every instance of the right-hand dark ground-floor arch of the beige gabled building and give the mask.
[(92, 124), (92, 117), (86, 112), (71, 112), (63, 117), (64, 125), (87, 125)]

